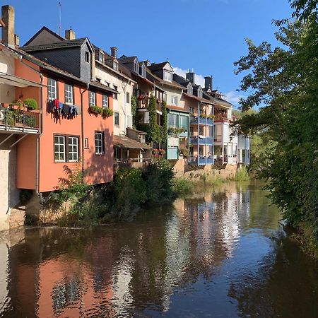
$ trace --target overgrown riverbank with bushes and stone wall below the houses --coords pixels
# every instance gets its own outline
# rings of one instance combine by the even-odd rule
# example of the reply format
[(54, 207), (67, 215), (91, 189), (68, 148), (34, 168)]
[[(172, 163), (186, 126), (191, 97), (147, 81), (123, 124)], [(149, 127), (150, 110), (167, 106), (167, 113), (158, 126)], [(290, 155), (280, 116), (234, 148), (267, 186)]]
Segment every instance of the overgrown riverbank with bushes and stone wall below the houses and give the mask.
[(140, 208), (171, 204), (177, 197), (227, 180), (248, 179), (245, 167), (238, 170), (232, 165), (190, 167), (190, 171), (182, 173), (176, 165), (160, 160), (144, 169), (123, 168), (112, 183), (102, 187), (83, 184), (82, 172), (72, 172), (67, 187), (47, 196), (39, 213), (31, 211), (26, 215), (26, 223), (88, 226), (131, 220)]

